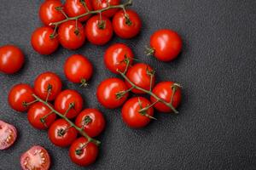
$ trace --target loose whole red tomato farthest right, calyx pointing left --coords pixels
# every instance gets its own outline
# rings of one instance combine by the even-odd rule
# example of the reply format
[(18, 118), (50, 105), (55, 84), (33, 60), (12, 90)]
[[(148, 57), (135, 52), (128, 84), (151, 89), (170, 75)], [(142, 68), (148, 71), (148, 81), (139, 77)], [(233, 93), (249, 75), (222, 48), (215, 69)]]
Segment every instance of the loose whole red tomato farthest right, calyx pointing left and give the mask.
[(163, 29), (155, 31), (150, 37), (150, 46), (154, 56), (160, 61), (172, 61), (180, 54), (183, 46), (182, 38), (176, 31)]

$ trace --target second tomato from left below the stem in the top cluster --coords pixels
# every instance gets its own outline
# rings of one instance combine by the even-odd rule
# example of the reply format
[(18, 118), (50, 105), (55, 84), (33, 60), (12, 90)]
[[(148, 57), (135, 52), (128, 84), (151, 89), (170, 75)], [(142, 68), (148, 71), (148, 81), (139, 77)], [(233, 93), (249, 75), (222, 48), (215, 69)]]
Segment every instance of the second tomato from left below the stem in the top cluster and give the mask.
[(78, 29), (76, 29), (76, 21), (69, 20), (59, 27), (59, 40), (61, 45), (67, 49), (80, 48), (85, 42), (85, 32), (83, 25), (78, 21)]

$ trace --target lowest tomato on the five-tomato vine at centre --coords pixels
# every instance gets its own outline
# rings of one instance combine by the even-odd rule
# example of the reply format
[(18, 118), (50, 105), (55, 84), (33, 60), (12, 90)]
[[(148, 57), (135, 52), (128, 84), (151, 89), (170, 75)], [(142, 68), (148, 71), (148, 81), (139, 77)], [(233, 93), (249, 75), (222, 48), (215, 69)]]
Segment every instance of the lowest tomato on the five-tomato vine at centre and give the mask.
[(122, 118), (126, 125), (133, 128), (145, 127), (154, 115), (153, 107), (142, 111), (151, 105), (148, 99), (143, 97), (135, 97), (127, 100), (122, 108)]

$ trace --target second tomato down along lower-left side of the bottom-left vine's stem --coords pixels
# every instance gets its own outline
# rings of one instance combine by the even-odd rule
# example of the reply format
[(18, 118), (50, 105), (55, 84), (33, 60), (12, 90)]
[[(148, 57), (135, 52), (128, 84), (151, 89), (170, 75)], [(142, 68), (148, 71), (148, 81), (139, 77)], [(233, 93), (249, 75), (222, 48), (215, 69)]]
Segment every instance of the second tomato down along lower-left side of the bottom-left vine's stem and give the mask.
[[(39, 130), (47, 129), (53, 122), (55, 122), (56, 115), (55, 113), (51, 113), (51, 110), (48, 106), (44, 105), (41, 102), (38, 102), (32, 105), (27, 112), (27, 120), (32, 125)], [(49, 116), (47, 116), (49, 115)], [(44, 122), (41, 122), (41, 118), (47, 116), (44, 119)]]

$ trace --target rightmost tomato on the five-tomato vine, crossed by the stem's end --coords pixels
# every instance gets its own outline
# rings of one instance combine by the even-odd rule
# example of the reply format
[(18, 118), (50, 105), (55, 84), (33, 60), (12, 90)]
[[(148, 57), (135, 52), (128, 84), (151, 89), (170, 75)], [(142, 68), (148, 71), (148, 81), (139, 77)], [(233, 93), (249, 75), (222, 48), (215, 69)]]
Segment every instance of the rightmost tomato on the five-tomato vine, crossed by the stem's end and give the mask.
[[(163, 99), (166, 102), (170, 103), (172, 99), (173, 85), (174, 85), (174, 82), (160, 82), (155, 85), (152, 92), (153, 94), (158, 96), (160, 99)], [(177, 106), (180, 104), (181, 98), (182, 98), (181, 89), (176, 88), (175, 93), (173, 95), (173, 99), (172, 99), (172, 105), (174, 108), (177, 108)], [(150, 97), (150, 100), (152, 103), (156, 102), (156, 99), (154, 99), (153, 96)], [(172, 109), (170, 107), (166, 106), (161, 102), (156, 103), (154, 105), (154, 108), (164, 113), (172, 112)]]

